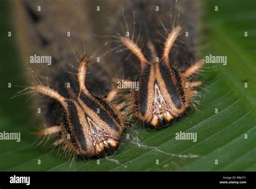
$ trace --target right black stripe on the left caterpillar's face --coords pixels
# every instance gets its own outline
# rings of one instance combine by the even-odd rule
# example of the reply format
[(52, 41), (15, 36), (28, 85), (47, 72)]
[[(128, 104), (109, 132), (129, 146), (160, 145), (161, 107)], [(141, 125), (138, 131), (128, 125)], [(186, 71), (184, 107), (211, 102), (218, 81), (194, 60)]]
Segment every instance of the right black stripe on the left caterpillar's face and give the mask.
[[(80, 99), (83, 101), (83, 103), (87, 107), (89, 107), (89, 109), (91, 109), (92, 111), (97, 113), (99, 115), (100, 119), (102, 119), (104, 122), (106, 122), (107, 126), (111, 127), (115, 131), (119, 130), (116, 123), (113, 122), (110, 115), (107, 114), (107, 112), (104, 109), (102, 109), (102, 107), (100, 107), (99, 104), (97, 104), (95, 101), (90, 99), (90, 97), (86, 96), (85, 93), (82, 93), (80, 95)], [(107, 107), (109, 107), (109, 106), (107, 106)], [(109, 109), (111, 109), (111, 107), (109, 107)]]

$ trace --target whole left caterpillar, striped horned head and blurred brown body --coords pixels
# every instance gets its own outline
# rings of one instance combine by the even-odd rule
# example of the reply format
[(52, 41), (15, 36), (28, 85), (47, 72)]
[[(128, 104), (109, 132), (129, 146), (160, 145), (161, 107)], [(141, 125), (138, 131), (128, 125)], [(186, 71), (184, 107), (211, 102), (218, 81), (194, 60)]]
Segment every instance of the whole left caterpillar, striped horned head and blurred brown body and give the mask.
[[(37, 93), (36, 107), (42, 109), (47, 125), (36, 134), (56, 135), (53, 145), (61, 145), (73, 156), (109, 154), (122, 137), (124, 120), (121, 107), (111, 104), (116, 91), (111, 91), (111, 71), (106, 69), (110, 66), (103, 58), (100, 63), (93, 63), (93, 59), (101, 57), (90, 56), (97, 53), (100, 45), (97, 40), (91, 42), (92, 26), (85, 14), (89, 1), (16, 3), (16, 18), (22, 19), (17, 29), (24, 61), (28, 62), (31, 55), (48, 55), (52, 59), (49, 66), (31, 62), (26, 65), (35, 79), (26, 89)], [(68, 34), (70, 40), (66, 40)], [(87, 55), (83, 49), (88, 48), (91, 53)], [(78, 65), (75, 50), (85, 54), (77, 57)], [(40, 99), (38, 93), (44, 96)]]

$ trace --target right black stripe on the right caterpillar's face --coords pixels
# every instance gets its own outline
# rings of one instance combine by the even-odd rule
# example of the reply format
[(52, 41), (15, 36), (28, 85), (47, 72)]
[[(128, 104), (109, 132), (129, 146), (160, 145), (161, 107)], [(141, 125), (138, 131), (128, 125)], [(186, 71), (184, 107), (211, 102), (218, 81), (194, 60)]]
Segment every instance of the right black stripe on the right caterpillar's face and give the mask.
[(180, 109), (181, 103), (180, 103), (180, 97), (177, 93), (177, 86), (174, 85), (172, 81), (172, 77), (169, 69), (163, 62), (161, 62), (159, 64), (159, 70), (161, 73), (161, 77), (164, 79), (165, 86), (167, 87), (168, 93), (171, 97), (173, 104), (177, 107), (177, 109)]

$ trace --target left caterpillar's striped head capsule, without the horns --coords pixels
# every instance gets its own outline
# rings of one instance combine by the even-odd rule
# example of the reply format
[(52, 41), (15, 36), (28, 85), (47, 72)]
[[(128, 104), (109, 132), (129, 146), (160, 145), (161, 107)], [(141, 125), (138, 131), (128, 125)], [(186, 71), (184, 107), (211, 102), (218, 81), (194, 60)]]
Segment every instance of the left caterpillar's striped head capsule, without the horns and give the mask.
[(117, 148), (124, 125), (113, 105), (87, 92), (65, 103), (64, 136), (69, 136), (73, 151), (90, 157), (104, 156)]

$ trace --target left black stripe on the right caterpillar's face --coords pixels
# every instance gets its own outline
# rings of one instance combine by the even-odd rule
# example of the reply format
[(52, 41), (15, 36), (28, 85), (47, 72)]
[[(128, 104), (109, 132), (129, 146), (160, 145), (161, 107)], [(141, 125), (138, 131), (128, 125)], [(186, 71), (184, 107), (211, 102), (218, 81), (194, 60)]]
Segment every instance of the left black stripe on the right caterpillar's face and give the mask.
[(150, 65), (146, 65), (139, 79), (139, 100), (140, 100), (140, 114), (145, 116), (147, 111), (147, 85), (149, 84)]

